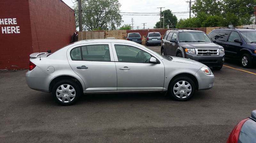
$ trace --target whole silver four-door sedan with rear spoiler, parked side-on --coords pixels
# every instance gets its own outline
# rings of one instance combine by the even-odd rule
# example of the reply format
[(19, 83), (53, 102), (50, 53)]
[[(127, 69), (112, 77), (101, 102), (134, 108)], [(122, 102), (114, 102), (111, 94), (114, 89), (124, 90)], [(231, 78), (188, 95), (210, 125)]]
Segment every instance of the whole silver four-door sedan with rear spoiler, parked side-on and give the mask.
[(71, 105), (81, 93), (166, 92), (186, 101), (195, 90), (212, 88), (214, 75), (197, 61), (162, 56), (132, 41), (97, 39), (52, 54), (30, 54), (26, 81), (31, 89), (52, 92), (59, 104)]

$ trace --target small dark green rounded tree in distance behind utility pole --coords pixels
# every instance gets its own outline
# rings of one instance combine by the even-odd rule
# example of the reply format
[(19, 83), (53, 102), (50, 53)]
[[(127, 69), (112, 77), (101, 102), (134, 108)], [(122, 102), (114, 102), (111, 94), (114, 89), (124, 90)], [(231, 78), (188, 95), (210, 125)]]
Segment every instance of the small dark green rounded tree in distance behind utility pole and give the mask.
[(167, 28), (167, 25), (169, 25), (169, 28), (175, 28), (177, 24), (177, 17), (172, 14), (171, 10), (164, 10), (161, 13), (162, 17), (161, 18), (161, 27), (160, 27), (160, 21), (156, 22), (156, 26), (154, 28)]

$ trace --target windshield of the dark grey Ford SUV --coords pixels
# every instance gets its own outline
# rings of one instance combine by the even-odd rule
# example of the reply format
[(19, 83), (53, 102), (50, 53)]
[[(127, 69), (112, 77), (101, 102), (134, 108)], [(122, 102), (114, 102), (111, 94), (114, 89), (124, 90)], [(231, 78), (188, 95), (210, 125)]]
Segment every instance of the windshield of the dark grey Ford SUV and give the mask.
[(179, 42), (211, 42), (204, 32), (180, 32)]

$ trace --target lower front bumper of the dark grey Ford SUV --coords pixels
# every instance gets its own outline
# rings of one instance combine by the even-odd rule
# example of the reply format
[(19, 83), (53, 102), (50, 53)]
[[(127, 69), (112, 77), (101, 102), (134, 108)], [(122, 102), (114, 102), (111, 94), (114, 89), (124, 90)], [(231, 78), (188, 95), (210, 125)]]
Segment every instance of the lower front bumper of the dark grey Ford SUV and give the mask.
[(196, 54), (185, 53), (185, 58), (191, 58), (191, 60), (201, 62), (208, 67), (221, 67), (224, 63), (224, 57), (225, 54), (220, 54), (218, 56), (198, 56)]

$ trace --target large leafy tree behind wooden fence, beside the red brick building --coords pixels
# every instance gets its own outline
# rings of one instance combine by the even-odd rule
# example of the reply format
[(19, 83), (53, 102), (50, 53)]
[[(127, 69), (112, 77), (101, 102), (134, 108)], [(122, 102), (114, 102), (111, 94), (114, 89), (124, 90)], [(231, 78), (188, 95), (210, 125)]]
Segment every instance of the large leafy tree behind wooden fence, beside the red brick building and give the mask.
[[(83, 30), (115, 30), (121, 25), (121, 4), (118, 0), (82, 1)], [(74, 6), (76, 26), (78, 27), (78, 4)]]

